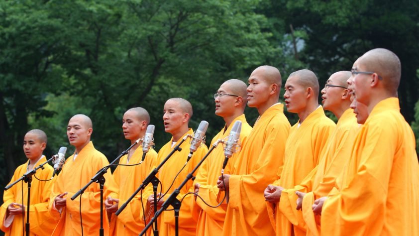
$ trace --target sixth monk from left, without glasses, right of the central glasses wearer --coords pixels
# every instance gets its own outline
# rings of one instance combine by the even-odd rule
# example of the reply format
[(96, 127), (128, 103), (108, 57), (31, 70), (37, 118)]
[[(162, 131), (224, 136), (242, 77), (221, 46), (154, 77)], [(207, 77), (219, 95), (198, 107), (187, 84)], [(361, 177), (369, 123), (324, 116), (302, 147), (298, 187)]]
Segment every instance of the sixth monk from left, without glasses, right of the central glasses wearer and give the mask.
[[(263, 198), (265, 186), (283, 165), (290, 123), (284, 105), (278, 103), (281, 74), (272, 66), (256, 68), (248, 79), (247, 105), (256, 108), (256, 120), (230, 174), (219, 177), (217, 186), (228, 191), (229, 202), (222, 235), (273, 235)], [(223, 180), (223, 181), (221, 181)], [(224, 183), (223, 183), (224, 182)], [(224, 188), (225, 184), (225, 188)]]

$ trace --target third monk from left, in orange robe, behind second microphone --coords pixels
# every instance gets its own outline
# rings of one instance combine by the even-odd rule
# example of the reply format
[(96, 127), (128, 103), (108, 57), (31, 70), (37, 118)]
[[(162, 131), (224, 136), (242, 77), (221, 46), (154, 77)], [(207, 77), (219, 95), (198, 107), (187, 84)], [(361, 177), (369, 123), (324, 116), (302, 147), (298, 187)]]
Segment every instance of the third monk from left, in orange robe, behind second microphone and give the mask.
[[(122, 131), (126, 139), (134, 144), (139, 138), (143, 138), (150, 123), (150, 115), (144, 108), (131, 108), (125, 112), (122, 118)], [(142, 142), (133, 146), (127, 155), (119, 159), (119, 164), (134, 165), (141, 162), (143, 151)], [(127, 207), (118, 215), (119, 202), (126, 202), (132, 193), (141, 185), (142, 181), (151, 172), (155, 165), (157, 152), (150, 148), (145, 155), (144, 161), (135, 166), (118, 166), (112, 176), (118, 187), (118, 192), (110, 194), (106, 201), (106, 213), (110, 222), (110, 234), (115, 236), (137, 236), (144, 229), (143, 210), (140, 195), (135, 196)], [(145, 206), (146, 202), (143, 202)]]

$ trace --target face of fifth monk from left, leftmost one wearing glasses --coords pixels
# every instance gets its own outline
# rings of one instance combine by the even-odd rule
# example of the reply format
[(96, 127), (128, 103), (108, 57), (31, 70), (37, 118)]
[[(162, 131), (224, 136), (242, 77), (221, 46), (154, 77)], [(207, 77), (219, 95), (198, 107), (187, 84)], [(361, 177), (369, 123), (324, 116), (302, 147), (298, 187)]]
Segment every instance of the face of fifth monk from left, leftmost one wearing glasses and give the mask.
[[(234, 113), (234, 104), (238, 96), (235, 95), (230, 89), (229, 84), (222, 84), (217, 90), (218, 97), (214, 99), (215, 102), (215, 115), (220, 117), (228, 117)], [(228, 94), (228, 95), (227, 95)]]

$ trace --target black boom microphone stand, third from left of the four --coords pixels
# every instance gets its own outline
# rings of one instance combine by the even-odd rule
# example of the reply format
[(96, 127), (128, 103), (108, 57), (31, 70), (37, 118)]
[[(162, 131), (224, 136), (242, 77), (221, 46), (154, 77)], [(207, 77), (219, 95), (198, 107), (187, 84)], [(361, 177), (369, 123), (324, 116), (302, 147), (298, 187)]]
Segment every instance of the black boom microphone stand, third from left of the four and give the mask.
[[(157, 212), (157, 187), (160, 181), (156, 177), (156, 174), (159, 172), (160, 168), (164, 165), (164, 163), (166, 163), (169, 160), (169, 158), (173, 155), (173, 153), (175, 153), (175, 151), (182, 150), (182, 148), (180, 148), (180, 145), (182, 145), (182, 143), (186, 141), (188, 137), (191, 137), (191, 135), (190, 134), (185, 135), (185, 137), (183, 137), (181, 142), (173, 148), (173, 150), (169, 153), (169, 155), (167, 155), (167, 157), (154, 170), (151, 171), (151, 173), (143, 180), (140, 187), (138, 187), (137, 190), (135, 190), (135, 192), (131, 195), (131, 197), (129, 197), (128, 200), (126, 200), (126, 202), (122, 204), (121, 207), (115, 212), (116, 216), (119, 215), (126, 208), (126, 205), (135, 197), (135, 195), (137, 195), (140, 190), (144, 189), (150, 182), (153, 185), (154, 212)], [(154, 222), (153, 234), (154, 236), (159, 235), (159, 230), (157, 229), (157, 221)]]

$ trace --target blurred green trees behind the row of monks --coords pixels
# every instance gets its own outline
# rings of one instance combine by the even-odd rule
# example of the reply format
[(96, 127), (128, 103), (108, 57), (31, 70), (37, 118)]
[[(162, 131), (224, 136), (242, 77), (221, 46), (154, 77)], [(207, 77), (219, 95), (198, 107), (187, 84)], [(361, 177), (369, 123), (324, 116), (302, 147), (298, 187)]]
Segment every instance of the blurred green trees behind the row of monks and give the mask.
[[(209, 121), (209, 143), (223, 126), (213, 94), (224, 81), (247, 83), (253, 69), (272, 65), (283, 84), (307, 68), (323, 88), (377, 47), (402, 61), (401, 112), (418, 137), (418, 14), (417, 0), (1, 1), (1, 186), (26, 161), (29, 129), (47, 133), (47, 158), (60, 146), (69, 156), (68, 120), (86, 114), (96, 148), (112, 161), (130, 145), (121, 128), (127, 109), (148, 110), (158, 151), (170, 138), (163, 105), (182, 97), (194, 108), (190, 127)], [(245, 114), (253, 125), (257, 111)]]

